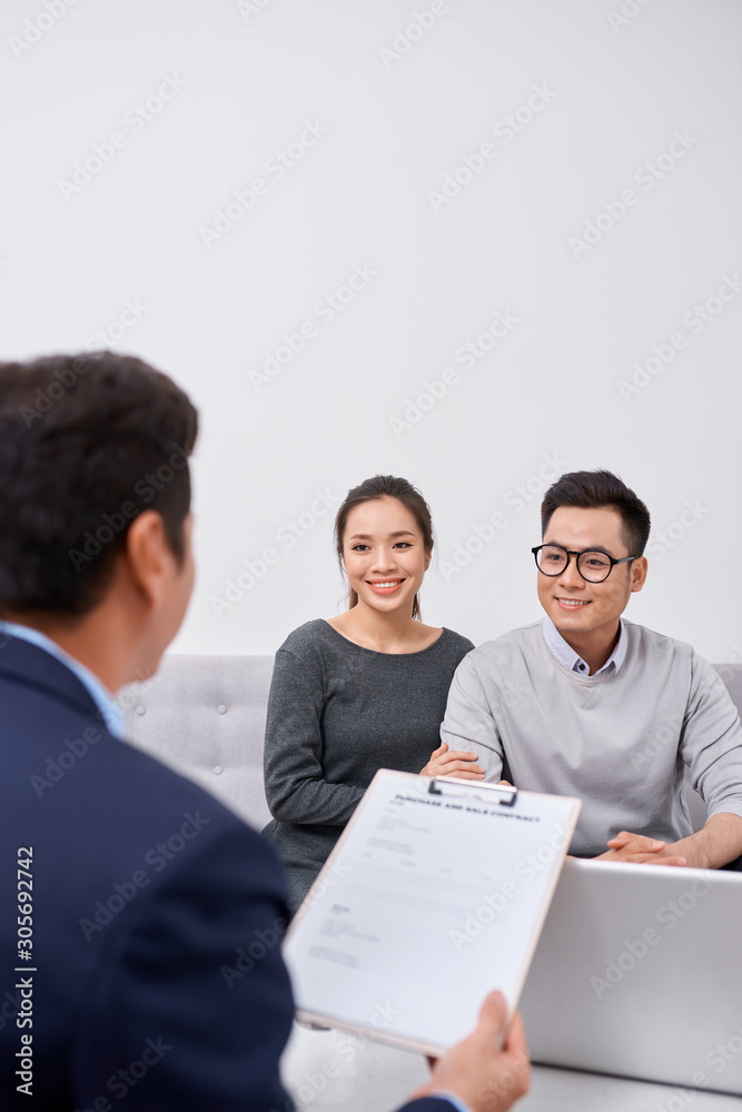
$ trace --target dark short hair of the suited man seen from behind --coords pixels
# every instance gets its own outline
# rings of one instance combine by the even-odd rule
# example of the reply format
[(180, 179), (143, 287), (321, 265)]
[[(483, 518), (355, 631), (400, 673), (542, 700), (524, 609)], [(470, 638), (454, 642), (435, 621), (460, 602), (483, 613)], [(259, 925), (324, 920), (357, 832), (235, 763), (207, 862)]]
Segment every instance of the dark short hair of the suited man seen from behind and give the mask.
[(197, 430), (187, 395), (140, 359), (0, 364), (0, 612), (91, 610), (142, 509), (181, 562)]

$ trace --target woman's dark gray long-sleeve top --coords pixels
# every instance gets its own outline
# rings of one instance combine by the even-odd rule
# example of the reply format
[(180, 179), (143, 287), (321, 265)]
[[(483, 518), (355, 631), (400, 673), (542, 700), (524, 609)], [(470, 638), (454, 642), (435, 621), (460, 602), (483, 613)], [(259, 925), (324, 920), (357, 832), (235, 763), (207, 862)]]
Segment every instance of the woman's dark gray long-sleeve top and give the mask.
[(376, 653), (317, 619), (278, 649), (265, 744), (274, 821), (264, 833), (288, 868), (295, 903), (375, 773), (427, 764), (452, 677), (473, 647), (444, 629), (419, 653)]

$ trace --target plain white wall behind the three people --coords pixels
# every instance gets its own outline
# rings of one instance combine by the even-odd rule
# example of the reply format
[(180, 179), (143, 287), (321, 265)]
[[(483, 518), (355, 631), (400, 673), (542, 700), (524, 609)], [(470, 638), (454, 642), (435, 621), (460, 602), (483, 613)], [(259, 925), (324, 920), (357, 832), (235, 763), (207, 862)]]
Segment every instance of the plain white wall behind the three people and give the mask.
[[(4, 0), (2, 355), (103, 331), (194, 397), (199, 578), (177, 651), (273, 652), (336, 613), (315, 492), (334, 508), (378, 471), (433, 508), (427, 622), (478, 643), (532, 620), (544, 476), (605, 466), (653, 515), (629, 615), (742, 658), (741, 44), (739, 0)], [(205, 234), (229, 202), (239, 219)], [(330, 314), (356, 267), (374, 274)], [(457, 359), (498, 311), (507, 335)]]

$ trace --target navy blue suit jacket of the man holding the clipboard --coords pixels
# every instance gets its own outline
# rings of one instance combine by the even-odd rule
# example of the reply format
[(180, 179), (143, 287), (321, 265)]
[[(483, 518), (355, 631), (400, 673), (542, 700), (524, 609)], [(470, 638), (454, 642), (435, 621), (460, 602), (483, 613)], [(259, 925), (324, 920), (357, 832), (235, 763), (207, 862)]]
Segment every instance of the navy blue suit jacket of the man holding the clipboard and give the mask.
[(33, 1106), (57, 1112), (125, 1098), (158, 1112), (290, 1110), (288, 910), (271, 846), (112, 737), (61, 662), (0, 642), (0, 1104), (30, 1106), (18, 1089), (30, 1061)]

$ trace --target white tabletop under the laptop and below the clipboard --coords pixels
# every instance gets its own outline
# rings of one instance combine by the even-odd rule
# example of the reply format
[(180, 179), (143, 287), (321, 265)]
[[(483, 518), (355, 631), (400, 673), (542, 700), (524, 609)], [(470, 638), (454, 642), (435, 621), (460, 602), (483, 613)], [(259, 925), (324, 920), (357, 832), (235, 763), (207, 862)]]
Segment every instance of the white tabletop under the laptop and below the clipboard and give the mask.
[[(339, 1031), (295, 1025), (284, 1079), (297, 1106), (310, 1112), (392, 1112), (429, 1078), (427, 1062)], [(739, 1099), (672, 1085), (534, 1066), (518, 1112), (738, 1112)]]

